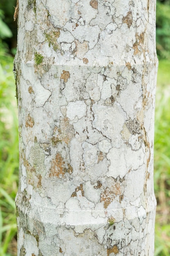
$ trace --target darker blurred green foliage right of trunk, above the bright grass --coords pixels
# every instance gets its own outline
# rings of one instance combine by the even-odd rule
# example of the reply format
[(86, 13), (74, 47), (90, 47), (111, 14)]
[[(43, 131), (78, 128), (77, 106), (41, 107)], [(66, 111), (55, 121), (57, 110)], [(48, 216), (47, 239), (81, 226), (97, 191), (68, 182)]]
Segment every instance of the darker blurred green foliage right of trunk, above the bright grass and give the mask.
[(170, 1), (157, 1), (157, 54), (170, 59)]

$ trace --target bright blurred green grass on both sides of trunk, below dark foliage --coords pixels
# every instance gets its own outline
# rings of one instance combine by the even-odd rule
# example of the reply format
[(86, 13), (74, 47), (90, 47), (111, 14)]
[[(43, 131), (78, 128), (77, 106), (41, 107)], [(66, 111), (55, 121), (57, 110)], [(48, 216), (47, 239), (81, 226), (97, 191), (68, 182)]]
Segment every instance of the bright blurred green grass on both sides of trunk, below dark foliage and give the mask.
[[(18, 183), (18, 119), (13, 59), (0, 51), (0, 256), (16, 256), (15, 196)], [(170, 255), (170, 62), (157, 79), (154, 186), (157, 198), (155, 256)]]

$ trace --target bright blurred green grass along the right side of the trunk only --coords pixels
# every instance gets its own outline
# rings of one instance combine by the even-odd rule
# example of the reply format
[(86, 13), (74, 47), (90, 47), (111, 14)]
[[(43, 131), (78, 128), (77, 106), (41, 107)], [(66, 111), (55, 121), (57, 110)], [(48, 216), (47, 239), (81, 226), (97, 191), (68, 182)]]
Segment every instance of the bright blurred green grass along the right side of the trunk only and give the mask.
[(154, 137), (155, 256), (170, 255), (170, 62), (159, 61)]

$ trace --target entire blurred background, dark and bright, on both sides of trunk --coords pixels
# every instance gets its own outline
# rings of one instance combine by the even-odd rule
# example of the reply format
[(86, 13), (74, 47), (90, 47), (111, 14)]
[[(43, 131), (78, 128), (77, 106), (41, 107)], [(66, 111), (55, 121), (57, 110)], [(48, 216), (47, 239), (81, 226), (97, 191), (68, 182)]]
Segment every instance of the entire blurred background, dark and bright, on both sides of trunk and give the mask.
[[(16, 256), (18, 119), (13, 77), (16, 0), (0, 1), (0, 256)], [(159, 69), (155, 110), (155, 256), (170, 256), (170, 0), (157, 0)]]

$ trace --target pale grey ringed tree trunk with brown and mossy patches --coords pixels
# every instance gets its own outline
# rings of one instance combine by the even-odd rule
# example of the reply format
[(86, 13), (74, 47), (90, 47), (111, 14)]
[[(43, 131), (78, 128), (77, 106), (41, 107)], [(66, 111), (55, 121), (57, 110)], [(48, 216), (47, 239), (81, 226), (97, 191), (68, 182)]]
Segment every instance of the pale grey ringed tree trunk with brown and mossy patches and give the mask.
[(18, 256), (153, 256), (155, 0), (19, 0)]

